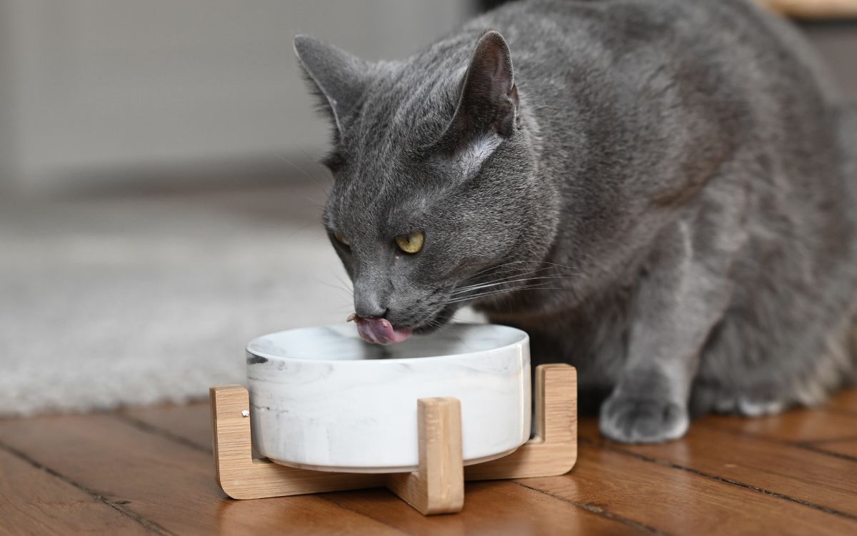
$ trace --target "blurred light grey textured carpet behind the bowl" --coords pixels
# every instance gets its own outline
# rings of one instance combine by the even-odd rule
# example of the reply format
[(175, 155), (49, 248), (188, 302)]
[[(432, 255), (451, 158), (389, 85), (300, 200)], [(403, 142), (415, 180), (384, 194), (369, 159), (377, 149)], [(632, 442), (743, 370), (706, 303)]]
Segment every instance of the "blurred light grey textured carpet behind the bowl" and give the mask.
[[(183, 401), (259, 334), (342, 322), (315, 186), (0, 207), (0, 415)], [(343, 287), (343, 288), (340, 288)]]

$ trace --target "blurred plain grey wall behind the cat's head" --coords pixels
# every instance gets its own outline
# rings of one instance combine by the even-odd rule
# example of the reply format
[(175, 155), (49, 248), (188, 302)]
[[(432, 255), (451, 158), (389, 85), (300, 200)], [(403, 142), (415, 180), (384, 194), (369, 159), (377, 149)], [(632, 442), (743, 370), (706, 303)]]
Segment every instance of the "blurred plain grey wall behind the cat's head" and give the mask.
[(284, 151), (316, 154), (327, 125), (293, 59), (295, 34), (368, 59), (406, 57), (473, 9), (461, 0), (0, 0), (7, 187), (65, 190), (167, 167), (176, 178), (176, 166), (247, 173)]

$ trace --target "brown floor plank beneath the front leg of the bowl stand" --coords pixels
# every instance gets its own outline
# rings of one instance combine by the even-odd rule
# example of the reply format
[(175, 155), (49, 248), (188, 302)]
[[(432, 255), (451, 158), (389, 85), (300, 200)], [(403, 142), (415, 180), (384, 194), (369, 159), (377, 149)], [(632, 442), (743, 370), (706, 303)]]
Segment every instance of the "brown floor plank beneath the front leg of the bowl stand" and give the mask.
[[(123, 413), (147, 430), (211, 449), (211, 420), (207, 404), (128, 410)], [(608, 519), (590, 510), (512, 482), (469, 483), (464, 511), (425, 518), (384, 490), (326, 493), (324, 497), (347, 509), (386, 522), (408, 533), (457, 534), (634, 534), (638, 527)]]

